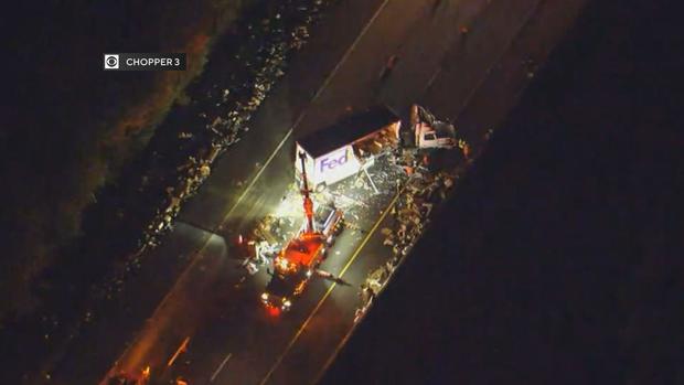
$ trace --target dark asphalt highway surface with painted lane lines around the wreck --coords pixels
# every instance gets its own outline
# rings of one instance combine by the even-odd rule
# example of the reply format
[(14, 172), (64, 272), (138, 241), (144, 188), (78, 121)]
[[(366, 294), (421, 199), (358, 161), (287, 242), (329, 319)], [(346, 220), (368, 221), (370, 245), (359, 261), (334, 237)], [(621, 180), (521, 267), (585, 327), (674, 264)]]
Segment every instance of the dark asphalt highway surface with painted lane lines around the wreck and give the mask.
[[(293, 133), (325, 126), (350, 107), (382, 101), (403, 113), (414, 100), (423, 100), (436, 114), (458, 121), (468, 110), (464, 106), (477, 101), (482, 86), (498, 74), (492, 68), (510, 57), (504, 54), (530, 20), (537, 20), (537, 29), (544, 26), (541, 31), (548, 34), (527, 33), (527, 39), (535, 38), (532, 43), (514, 47), (543, 46), (547, 52), (565, 29), (560, 22), (538, 22), (539, 14), (553, 9), (544, 18), (567, 23), (581, 3), (394, 0), (336, 6), (254, 118), (250, 135), (218, 161), (177, 229), (149, 256), (150, 267), (127, 288), (119, 312), (79, 336), (89, 344), (75, 343), (45, 365), (53, 383), (97, 382), (107, 373), (103, 362), (108, 359), (111, 372), (151, 365), (159, 373), (168, 367), (160, 375), (183, 375), (191, 384), (312, 382), (352, 330), (356, 287), (384, 253), (375, 231), (386, 218), (378, 213), (357, 224), (366, 232), (344, 232), (332, 250), (334, 258), (323, 266), (351, 287), (317, 280), (291, 312), (278, 318), (269, 317), (258, 302), (266, 274), (236, 287), (244, 270), (235, 267), (238, 261), (227, 254), (225, 239), (205, 229), (221, 226), (217, 233), (231, 239), (272, 211), (292, 180)], [(359, 18), (351, 21), (349, 14)], [(470, 32), (461, 34), (460, 25)], [(381, 82), (380, 72), (393, 54), (399, 56), (398, 64)], [(515, 58), (515, 71), (501, 73), (520, 75)], [(515, 99), (525, 85), (520, 78), (489, 97)], [(505, 105), (499, 107), (501, 118)], [(471, 114), (469, 120), (473, 138), (485, 129), (475, 125), (480, 114)], [(484, 115), (492, 119), (496, 114)], [(140, 317), (147, 316), (140, 314), (151, 303), (158, 306), (143, 323)], [(122, 332), (127, 330), (138, 332), (131, 338)], [(169, 366), (186, 339), (186, 349)]]

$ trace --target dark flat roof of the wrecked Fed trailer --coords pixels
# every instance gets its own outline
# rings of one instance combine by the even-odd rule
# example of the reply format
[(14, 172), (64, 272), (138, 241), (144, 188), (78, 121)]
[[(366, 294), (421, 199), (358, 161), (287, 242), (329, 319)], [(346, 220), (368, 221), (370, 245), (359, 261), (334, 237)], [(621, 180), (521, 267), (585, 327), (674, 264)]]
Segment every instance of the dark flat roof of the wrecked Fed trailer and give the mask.
[(344, 145), (352, 143), (397, 120), (399, 120), (399, 117), (386, 106), (375, 106), (346, 116), (334, 125), (297, 139), (297, 142), (299, 142), (311, 157), (318, 158)]

